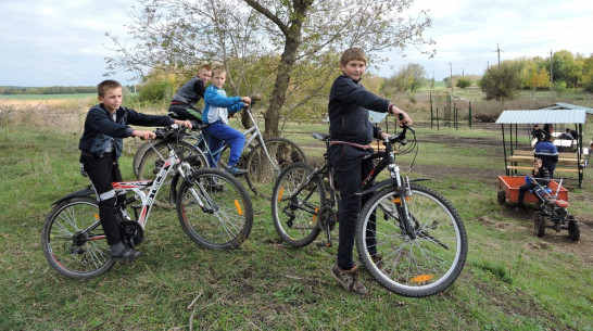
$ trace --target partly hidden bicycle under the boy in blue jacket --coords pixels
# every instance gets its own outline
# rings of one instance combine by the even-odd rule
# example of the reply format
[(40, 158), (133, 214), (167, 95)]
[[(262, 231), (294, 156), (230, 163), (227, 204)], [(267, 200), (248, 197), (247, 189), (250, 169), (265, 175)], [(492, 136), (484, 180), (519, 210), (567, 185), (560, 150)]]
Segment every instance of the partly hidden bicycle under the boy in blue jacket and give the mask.
[[(245, 179), (250, 189), (263, 198), (270, 199), (274, 181), (281, 169), (294, 162), (306, 162), (303, 150), (293, 141), (273, 137), (264, 139), (255, 118), (251, 112), (251, 104), (243, 109), (241, 116), (247, 116), (251, 127), (243, 132), (245, 136), (245, 149), (241, 154), (238, 166), (248, 170)], [(204, 126), (200, 126), (202, 129)], [(207, 138), (203, 132), (197, 135), (186, 135), (180, 137), (176, 144), (178, 151), (185, 156), (195, 155), (195, 166), (207, 165), (206, 155), (220, 155), (218, 165), (225, 167), (225, 161), (228, 160), (229, 145), (223, 144), (217, 151), (212, 151), (207, 145)], [(159, 150), (159, 149), (157, 149)], [(150, 179), (154, 177), (154, 160), (157, 158), (155, 150), (147, 150), (140, 147), (134, 156), (134, 169), (138, 179)], [(172, 179), (173, 183), (168, 201), (163, 195), (159, 201), (159, 206), (172, 207), (175, 201), (177, 180)]]

